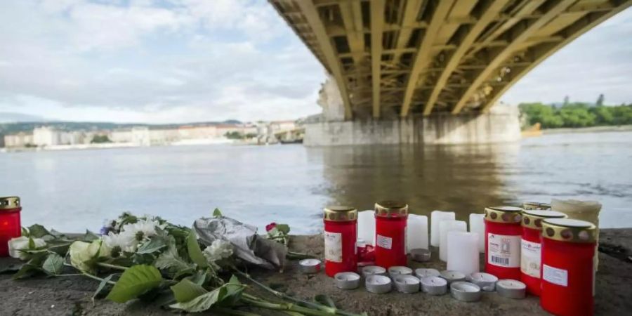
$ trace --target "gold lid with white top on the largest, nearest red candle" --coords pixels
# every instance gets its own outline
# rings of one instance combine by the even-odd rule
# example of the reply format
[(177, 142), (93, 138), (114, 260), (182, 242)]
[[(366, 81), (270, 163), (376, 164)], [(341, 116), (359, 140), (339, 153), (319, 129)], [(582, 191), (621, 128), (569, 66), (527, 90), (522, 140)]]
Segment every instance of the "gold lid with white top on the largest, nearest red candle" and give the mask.
[(560, 242), (594, 243), (597, 227), (586, 220), (546, 218), (542, 220), (542, 237)]

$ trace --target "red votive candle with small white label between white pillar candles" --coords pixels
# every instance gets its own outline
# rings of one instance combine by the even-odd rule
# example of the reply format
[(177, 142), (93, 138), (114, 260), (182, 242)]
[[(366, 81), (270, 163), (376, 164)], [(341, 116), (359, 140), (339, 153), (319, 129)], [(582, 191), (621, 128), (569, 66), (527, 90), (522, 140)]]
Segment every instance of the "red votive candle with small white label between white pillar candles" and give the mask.
[(375, 204), (375, 264), (383, 268), (406, 265), (408, 205), (384, 201)]

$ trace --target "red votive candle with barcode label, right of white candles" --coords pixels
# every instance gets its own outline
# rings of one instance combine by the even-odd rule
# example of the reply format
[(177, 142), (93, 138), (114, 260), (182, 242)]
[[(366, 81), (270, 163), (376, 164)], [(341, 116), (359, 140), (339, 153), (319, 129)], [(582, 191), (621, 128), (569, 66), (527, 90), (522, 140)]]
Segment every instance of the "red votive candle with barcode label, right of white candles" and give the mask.
[(520, 207), (485, 208), (485, 272), (499, 279), (520, 279)]

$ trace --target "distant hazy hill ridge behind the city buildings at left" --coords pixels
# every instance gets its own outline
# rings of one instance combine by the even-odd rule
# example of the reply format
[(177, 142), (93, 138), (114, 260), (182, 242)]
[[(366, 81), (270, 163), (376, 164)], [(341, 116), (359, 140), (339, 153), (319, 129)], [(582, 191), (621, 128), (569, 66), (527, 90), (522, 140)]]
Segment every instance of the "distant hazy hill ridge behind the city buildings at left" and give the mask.
[[(0, 113), (1, 115), (1, 113)], [(28, 117), (28, 116), (26, 116)], [(241, 121), (230, 119), (226, 121), (204, 121), (187, 124), (133, 124), (108, 122), (80, 122), (80, 121), (18, 121), (6, 123), (0, 121), (0, 134), (31, 132), (39, 126), (54, 126), (61, 131), (100, 131), (113, 129), (131, 129), (134, 126), (147, 126), (150, 129), (177, 129), (180, 126), (210, 126), (218, 124), (241, 124)]]

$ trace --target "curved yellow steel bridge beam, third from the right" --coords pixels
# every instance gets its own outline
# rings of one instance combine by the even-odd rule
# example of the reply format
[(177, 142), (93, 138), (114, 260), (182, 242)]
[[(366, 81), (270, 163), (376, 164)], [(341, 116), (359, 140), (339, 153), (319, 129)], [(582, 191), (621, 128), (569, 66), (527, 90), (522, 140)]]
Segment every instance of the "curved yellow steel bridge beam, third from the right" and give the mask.
[(463, 55), (467, 53), (467, 51), (470, 49), (470, 46), (474, 43), (474, 41), (476, 41), (480, 33), (485, 30), (487, 25), (489, 25), (489, 23), (492, 22), (494, 18), (496, 18), (496, 15), (502, 12), (503, 8), (508, 2), (509, 0), (487, 1), (487, 5), (482, 8), (482, 14), (478, 18), (477, 22), (475, 22), (475, 24), (470, 28), (467, 35), (463, 37), (463, 39), (461, 39), (456, 48), (456, 51), (454, 51), (452, 54), (449, 55), (449, 57), (447, 57), (448, 61), (446, 62), (445, 68), (441, 72), (439, 78), (435, 82), (433, 91), (432, 93), (430, 93), (428, 102), (423, 109), (423, 115), (430, 115), (430, 112), (433, 111), (435, 102), (439, 97), (439, 93), (444, 88), (452, 72), (454, 72), (456, 67), (459, 65), (459, 62), (461, 62), (461, 58), (463, 58)]

